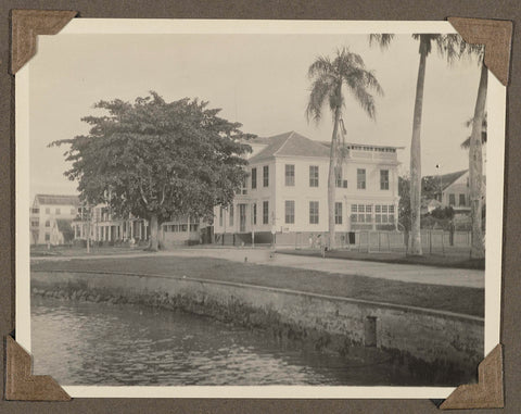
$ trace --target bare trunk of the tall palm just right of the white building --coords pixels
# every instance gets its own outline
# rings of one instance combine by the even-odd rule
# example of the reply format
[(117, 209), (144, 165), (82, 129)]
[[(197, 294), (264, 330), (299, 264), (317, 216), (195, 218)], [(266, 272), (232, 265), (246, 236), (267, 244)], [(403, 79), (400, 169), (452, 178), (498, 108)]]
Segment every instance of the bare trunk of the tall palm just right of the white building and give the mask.
[(415, 118), (410, 141), (410, 235), (409, 254), (422, 254), (421, 251), (421, 112), (423, 106), (423, 84), (425, 80), (427, 48), (420, 40), (420, 65), (416, 84)]

